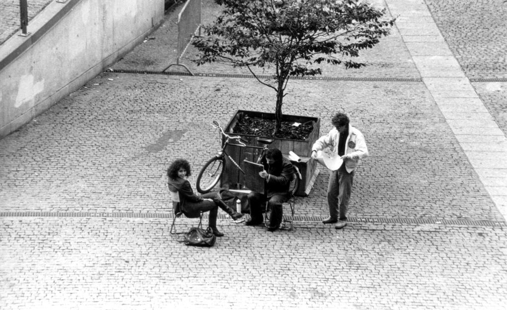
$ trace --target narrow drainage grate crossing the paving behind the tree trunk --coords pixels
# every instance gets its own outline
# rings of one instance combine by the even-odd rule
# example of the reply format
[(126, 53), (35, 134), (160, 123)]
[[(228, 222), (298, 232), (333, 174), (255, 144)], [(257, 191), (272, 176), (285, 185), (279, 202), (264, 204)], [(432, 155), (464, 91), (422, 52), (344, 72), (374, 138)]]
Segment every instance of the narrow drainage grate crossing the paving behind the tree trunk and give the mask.
[[(188, 72), (179, 71), (146, 71), (146, 70), (124, 70), (109, 69), (106, 73), (132, 73), (132, 74), (155, 74), (155, 75), (179, 75), (192, 76)], [(229, 74), (229, 73), (196, 73), (197, 77), (236, 77), (236, 78), (255, 78), (251, 74)], [(273, 79), (274, 75), (258, 75), (261, 79)], [(422, 82), (421, 78), (404, 78), (404, 77), (328, 77), (328, 76), (295, 76), (291, 77), (295, 80), (314, 80), (314, 81), (366, 81), (366, 82)]]

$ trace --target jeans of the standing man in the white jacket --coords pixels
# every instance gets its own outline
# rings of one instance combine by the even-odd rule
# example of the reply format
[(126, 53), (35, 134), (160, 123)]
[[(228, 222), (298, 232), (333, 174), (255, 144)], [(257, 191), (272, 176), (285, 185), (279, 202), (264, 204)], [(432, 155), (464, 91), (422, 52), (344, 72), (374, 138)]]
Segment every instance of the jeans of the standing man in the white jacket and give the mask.
[[(345, 164), (329, 174), (328, 205), (331, 218), (347, 219), (347, 208), (352, 193), (353, 179), (354, 171), (348, 173)], [(338, 215), (340, 216), (338, 217)]]

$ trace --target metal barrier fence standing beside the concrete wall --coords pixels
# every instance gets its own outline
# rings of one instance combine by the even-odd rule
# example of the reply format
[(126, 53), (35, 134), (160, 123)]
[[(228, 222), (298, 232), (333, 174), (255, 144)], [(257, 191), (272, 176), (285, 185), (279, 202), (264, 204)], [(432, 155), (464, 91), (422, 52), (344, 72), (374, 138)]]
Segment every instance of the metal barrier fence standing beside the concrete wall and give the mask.
[(179, 63), (179, 59), (185, 54), (190, 41), (196, 35), (197, 31), (201, 30), (201, 0), (188, 0), (183, 6), (182, 11), (178, 14), (178, 56), (175, 64), (170, 64), (167, 68), (162, 70), (169, 69), (171, 66), (182, 66), (190, 74), (194, 75), (190, 69), (184, 65)]

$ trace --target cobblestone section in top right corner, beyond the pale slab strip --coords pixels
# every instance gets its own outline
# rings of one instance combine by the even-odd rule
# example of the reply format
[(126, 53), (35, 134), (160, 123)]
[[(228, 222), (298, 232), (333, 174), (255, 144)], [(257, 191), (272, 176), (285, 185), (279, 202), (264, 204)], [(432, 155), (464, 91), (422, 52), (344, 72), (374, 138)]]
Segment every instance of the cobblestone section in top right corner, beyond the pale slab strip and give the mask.
[(507, 3), (425, 0), (468, 78), (507, 78)]

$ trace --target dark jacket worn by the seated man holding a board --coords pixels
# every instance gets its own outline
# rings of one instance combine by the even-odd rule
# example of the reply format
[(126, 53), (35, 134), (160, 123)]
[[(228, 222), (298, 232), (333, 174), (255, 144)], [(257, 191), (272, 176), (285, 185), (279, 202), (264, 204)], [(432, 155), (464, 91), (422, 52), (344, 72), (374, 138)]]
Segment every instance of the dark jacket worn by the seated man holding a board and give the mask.
[(265, 158), (261, 160), (264, 169), (270, 174), (266, 180), (266, 191), (268, 197), (275, 194), (287, 195), (289, 186), (291, 185), (294, 167), (290, 161), (282, 158), (282, 162), (275, 162), (268, 165)]

